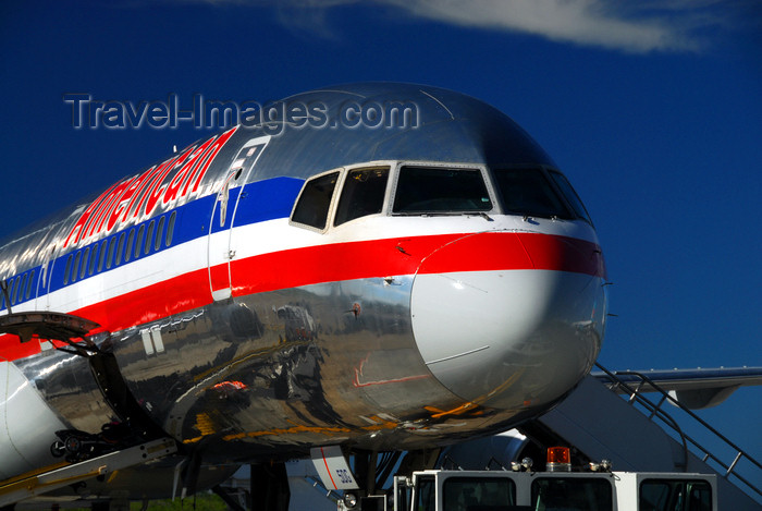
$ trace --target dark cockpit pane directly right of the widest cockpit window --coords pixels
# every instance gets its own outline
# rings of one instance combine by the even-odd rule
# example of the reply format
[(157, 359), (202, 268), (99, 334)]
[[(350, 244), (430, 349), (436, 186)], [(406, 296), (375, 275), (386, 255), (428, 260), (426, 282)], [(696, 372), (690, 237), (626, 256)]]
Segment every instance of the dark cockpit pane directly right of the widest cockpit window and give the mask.
[(506, 214), (574, 218), (541, 169), (495, 170), (494, 177)]

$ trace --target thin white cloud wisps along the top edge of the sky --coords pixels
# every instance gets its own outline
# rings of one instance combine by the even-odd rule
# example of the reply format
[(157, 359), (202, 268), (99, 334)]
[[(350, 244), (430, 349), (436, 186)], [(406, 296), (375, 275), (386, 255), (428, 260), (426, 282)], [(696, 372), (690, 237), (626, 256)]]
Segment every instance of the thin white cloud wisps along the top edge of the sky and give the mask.
[(627, 52), (698, 51), (708, 29), (727, 28), (757, 0), (175, 0), (274, 8), (286, 27), (331, 37), (329, 14), (348, 4), (391, 7), (410, 17), (529, 34)]

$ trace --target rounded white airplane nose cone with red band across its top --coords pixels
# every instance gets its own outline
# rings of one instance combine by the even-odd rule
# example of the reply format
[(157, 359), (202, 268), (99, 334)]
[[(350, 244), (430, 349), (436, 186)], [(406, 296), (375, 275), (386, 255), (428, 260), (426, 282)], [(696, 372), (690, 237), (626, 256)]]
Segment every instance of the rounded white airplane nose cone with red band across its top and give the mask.
[(536, 241), (515, 232), (464, 236), (418, 268), (410, 296), (418, 350), (466, 401), (503, 410), (552, 403), (598, 356), (605, 295), (602, 273), (591, 275), (586, 258), (602, 268), (600, 251)]

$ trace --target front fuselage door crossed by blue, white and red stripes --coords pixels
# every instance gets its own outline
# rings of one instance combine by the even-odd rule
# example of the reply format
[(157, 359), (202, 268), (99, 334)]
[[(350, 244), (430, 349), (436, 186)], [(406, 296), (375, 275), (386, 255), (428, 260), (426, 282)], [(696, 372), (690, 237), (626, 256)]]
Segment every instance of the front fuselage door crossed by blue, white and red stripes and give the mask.
[(233, 295), (230, 261), (236, 257), (233, 245), (235, 212), (245, 195), (245, 183), (269, 142), (270, 136), (267, 135), (251, 138), (244, 144), (217, 192), (208, 243), (209, 288), (216, 302)]

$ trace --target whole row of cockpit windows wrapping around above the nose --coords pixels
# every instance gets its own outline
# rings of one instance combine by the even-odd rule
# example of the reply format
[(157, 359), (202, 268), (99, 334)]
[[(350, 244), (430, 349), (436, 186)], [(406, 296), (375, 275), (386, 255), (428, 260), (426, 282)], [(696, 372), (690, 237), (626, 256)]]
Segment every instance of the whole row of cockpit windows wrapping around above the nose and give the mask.
[[(389, 193), (388, 193), (389, 192)], [(368, 216), (491, 215), (590, 221), (558, 171), (541, 166), (487, 169), (479, 165), (386, 161), (308, 179), (291, 221), (325, 232)], [(488, 214), (490, 216), (488, 216)]]

